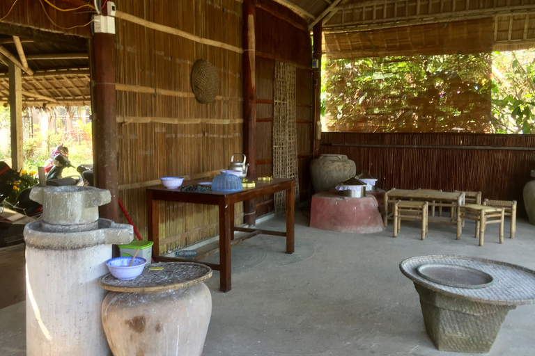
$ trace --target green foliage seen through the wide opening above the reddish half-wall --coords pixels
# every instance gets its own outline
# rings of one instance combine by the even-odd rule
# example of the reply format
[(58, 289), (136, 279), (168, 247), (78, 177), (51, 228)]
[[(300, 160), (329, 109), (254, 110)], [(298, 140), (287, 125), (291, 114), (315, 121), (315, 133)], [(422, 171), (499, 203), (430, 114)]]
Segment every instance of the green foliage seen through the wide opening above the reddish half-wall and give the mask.
[(322, 64), (327, 131), (535, 133), (535, 50)]

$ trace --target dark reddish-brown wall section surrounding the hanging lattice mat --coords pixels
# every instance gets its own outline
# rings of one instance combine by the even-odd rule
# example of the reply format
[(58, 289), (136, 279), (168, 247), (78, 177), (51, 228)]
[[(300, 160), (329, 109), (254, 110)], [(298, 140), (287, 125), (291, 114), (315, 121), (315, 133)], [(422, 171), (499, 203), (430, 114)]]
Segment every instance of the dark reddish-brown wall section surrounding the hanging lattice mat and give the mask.
[[(300, 200), (309, 198), (312, 159), (312, 58), (307, 22), (270, 0), (256, 6), (256, 173), (273, 174), (272, 123), (275, 62), (290, 63), (296, 72), (297, 159)], [(274, 211), (272, 196), (256, 200), (256, 216)]]

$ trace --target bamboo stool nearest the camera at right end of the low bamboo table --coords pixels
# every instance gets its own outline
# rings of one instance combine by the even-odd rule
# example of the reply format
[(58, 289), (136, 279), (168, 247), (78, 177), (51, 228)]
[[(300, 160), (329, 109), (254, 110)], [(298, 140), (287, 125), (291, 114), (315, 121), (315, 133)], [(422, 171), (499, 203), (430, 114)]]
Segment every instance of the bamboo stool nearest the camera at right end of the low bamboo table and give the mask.
[[(499, 243), (504, 243), (504, 209), (486, 207), (479, 204), (466, 204), (460, 207), (461, 220), (469, 219), (476, 222), (476, 234), (479, 235), (479, 245), (483, 246), (483, 236), (488, 224), (499, 223)], [(460, 236), (457, 236), (457, 240)]]

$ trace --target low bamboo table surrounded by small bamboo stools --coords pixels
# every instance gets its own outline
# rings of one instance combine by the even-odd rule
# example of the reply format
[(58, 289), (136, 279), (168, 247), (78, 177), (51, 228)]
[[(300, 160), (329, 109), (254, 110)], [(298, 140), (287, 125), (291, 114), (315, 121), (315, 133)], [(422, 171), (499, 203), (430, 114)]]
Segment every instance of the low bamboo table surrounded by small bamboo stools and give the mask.
[[(441, 191), (431, 191), (424, 189), (391, 189), (385, 193), (385, 213), (383, 215), (383, 220), (385, 226), (388, 222), (388, 204), (395, 202), (396, 200), (419, 200), (426, 201), (435, 204), (436, 206), (441, 207), (450, 207), (452, 215), (449, 218), (443, 218), (438, 216), (430, 216), (428, 222), (430, 223), (449, 223), (457, 225), (457, 236), (460, 238), (461, 231), (461, 220), (460, 220), (460, 209), (461, 205), (465, 204), (465, 193), (463, 192), (441, 192)], [(455, 216), (453, 216), (455, 213)]]

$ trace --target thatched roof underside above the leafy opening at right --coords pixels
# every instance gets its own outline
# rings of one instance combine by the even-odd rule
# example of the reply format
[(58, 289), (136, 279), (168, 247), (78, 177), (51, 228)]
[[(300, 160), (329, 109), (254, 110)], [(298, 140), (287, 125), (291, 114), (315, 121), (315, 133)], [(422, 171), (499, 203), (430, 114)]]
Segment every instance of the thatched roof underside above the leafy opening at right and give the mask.
[(500, 51), (535, 46), (535, 0), (275, 1), (306, 19), (309, 29), (323, 24), (323, 49), (329, 58), (391, 56), (419, 49), (434, 54), (444, 45), (444, 54), (464, 53), (474, 39), (473, 51), (488, 46), (489, 40), (492, 49)]

